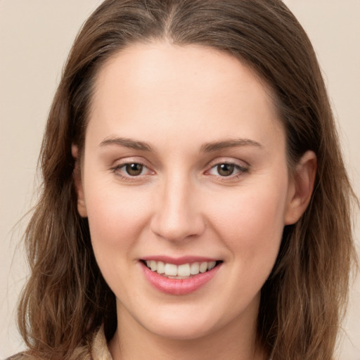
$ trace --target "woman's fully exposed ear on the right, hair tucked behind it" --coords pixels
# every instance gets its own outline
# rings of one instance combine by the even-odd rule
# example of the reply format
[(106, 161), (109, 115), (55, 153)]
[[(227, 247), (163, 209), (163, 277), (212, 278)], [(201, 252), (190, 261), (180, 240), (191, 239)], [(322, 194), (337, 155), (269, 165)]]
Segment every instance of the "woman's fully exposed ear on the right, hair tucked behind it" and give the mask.
[(316, 176), (317, 160), (313, 151), (307, 151), (295, 167), (288, 187), (285, 225), (295, 224), (309, 205)]

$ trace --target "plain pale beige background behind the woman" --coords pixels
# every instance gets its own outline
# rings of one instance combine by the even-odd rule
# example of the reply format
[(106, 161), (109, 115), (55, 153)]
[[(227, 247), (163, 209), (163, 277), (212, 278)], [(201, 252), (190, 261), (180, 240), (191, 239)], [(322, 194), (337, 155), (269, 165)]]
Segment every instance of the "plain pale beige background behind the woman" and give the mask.
[[(18, 245), (34, 203), (37, 155), (60, 72), (100, 0), (0, 0), (0, 359), (23, 348), (15, 302), (27, 268)], [(360, 0), (288, 0), (326, 77), (360, 194)], [(336, 176), (336, 174), (334, 174)], [(356, 238), (359, 244), (359, 212)], [(360, 281), (352, 287), (339, 359), (360, 360)]]

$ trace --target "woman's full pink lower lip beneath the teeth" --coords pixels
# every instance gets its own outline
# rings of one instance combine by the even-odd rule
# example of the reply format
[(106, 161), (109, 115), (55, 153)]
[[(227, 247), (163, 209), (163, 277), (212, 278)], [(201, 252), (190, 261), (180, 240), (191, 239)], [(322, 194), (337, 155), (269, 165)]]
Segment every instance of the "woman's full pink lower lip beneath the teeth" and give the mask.
[(156, 271), (151, 271), (141, 262), (145, 277), (151, 285), (162, 293), (171, 295), (186, 295), (195, 292), (208, 283), (217, 274), (221, 264), (203, 274), (191, 276), (191, 278), (166, 278), (159, 275)]

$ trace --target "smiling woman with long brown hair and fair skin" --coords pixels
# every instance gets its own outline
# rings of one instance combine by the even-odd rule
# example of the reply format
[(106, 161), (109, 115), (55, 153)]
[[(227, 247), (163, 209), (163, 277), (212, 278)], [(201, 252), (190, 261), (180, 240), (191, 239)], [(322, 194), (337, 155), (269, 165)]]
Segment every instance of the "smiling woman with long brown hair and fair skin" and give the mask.
[(20, 356), (333, 356), (353, 194), (314, 51), (280, 1), (105, 1), (41, 167)]

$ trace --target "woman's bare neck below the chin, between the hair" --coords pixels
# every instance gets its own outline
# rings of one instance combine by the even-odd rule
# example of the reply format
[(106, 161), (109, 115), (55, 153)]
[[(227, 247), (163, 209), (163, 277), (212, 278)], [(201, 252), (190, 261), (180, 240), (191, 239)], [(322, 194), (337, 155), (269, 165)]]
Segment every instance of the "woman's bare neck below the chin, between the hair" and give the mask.
[(176, 339), (166, 338), (143, 328), (121, 307), (118, 307), (117, 311), (118, 326), (109, 343), (110, 353), (114, 360), (266, 359), (264, 350), (259, 348), (255, 341), (256, 316), (252, 317), (252, 321), (234, 319), (226, 326), (200, 338)]

